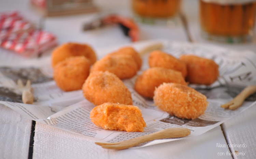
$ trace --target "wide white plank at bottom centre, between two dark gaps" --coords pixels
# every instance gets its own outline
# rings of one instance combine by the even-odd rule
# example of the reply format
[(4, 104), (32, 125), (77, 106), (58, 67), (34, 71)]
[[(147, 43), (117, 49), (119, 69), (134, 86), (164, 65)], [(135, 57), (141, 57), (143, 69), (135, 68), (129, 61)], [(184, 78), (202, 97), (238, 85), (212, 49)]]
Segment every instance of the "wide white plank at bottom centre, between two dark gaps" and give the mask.
[(229, 152), (227, 147), (216, 146), (226, 144), (220, 126), (197, 137), (120, 151), (104, 149), (86, 136), (41, 123), (37, 123), (35, 134), (33, 158), (232, 158), (218, 155)]

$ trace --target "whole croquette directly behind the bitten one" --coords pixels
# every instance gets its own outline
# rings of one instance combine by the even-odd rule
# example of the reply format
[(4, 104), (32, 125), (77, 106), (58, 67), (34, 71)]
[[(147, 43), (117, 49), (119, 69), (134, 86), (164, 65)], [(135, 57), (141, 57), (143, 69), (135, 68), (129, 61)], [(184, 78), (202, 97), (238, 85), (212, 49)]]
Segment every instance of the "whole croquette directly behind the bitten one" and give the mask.
[(84, 97), (96, 106), (105, 102), (132, 105), (130, 91), (115, 74), (109, 71), (90, 73), (82, 90)]

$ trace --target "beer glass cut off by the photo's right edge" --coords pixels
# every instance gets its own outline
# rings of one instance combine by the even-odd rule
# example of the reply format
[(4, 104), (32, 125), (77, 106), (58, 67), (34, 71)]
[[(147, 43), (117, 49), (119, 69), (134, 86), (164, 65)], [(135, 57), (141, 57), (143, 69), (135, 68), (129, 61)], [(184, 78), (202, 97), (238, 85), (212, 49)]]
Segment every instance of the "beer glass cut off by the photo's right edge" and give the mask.
[(252, 41), (256, 0), (200, 0), (203, 37), (221, 42)]

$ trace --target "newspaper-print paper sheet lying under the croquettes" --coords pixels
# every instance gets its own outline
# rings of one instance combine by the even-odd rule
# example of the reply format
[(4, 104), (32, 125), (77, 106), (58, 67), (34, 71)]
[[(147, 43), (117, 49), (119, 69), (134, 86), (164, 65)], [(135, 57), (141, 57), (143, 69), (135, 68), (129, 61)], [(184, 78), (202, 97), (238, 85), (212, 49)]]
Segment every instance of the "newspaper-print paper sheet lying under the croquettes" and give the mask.
[[(133, 105), (141, 109), (146, 122), (144, 132), (124, 132), (104, 130), (94, 125), (89, 117), (95, 106), (83, 97), (81, 90), (63, 92), (52, 78), (49, 58), (38, 61), (27, 61), (26, 64), (16, 63), (0, 66), (0, 105), (27, 116), (29, 119), (69, 132), (81, 134), (101, 142), (118, 142), (144, 136), (162, 129), (184, 127), (191, 134), (184, 138), (198, 136), (236, 116), (245, 109), (255, 105), (256, 95), (247, 98), (244, 104), (236, 110), (223, 109), (220, 106), (236, 96), (245, 86), (256, 84), (256, 53), (252, 51), (237, 52), (221, 47), (205, 44), (174, 43), (157, 41), (164, 45), (163, 51), (175, 57), (181, 54), (196, 54), (213, 59), (219, 65), (220, 77), (210, 86), (189, 85), (207, 96), (209, 106), (205, 113), (194, 120), (187, 120), (169, 115), (154, 106), (154, 101), (143, 98), (133, 86), (136, 77), (123, 80), (130, 90)], [(153, 42), (134, 44), (134, 48), (142, 49)], [(116, 48), (97, 50), (101, 57)], [(147, 69), (147, 55), (143, 57), (141, 71)], [(141, 74), (141, 71), (138, 74)], [(17, 79), (32, 82), (34, 104), (22, 104), (21, 93), (16, 90)], [(179, 138), (183, 139), (183, 138)], [(179, 139), (162, 139), (141, 144), (148, 146)]]

